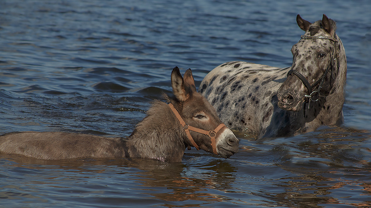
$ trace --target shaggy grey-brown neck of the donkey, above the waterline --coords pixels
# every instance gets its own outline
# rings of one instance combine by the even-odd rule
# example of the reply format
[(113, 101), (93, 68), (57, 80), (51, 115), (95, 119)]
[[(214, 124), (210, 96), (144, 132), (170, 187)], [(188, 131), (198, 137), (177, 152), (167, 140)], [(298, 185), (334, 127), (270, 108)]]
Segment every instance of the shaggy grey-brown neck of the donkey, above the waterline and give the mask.
[(185, 133), (170, 107), (154, 101), (147, 116), (127, 138), (128, 156), (180, 162), (185, 150)]

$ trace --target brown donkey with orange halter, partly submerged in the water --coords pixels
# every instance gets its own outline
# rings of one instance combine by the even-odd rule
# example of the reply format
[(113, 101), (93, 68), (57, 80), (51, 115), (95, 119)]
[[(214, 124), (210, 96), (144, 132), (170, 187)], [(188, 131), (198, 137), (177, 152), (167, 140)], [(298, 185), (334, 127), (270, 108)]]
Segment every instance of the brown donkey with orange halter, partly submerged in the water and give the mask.
[[(171, 72), (174, 97), (155, 100), (127, 138), (66, 132), (12, 132), (0, 136), (0, 152), (61, 160), (72, 158), (148, 158), (181, 162), (186, 147), (228, 158), (239, 140), (221, 123), (215, 109), (196, 92), (191, 69)], [(204, 130), (206, 129), (206, 130)]]

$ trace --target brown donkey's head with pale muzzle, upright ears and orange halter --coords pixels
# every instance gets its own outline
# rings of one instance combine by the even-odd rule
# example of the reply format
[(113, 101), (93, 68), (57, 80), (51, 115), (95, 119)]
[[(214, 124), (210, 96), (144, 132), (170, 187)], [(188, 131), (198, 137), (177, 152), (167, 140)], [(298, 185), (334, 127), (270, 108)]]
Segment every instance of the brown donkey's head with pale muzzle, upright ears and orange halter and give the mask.
[[(182, 77), (179, 68), (175, 67), (171, 73), (171, 85), (175, 95), (175, 100), (171, 103), (180, 114), (180, 123), (182, 123), (182, 119), (184, 120), (181, 128), (185, 130), (182, 134), (187, 134), (184, 137), (185, 144), (221, 155), (224, 158), (238, 152), (239, 140), (229, 128), (222, 124), (216, 110), (206, 98), (197, 93), (191, 69), (188, 69)], [(187, 130), (190, 131), (187, 133)], [(213, 139), (214, 142), (212, 142)], [(190, 140), (194, 140), (194, 142)], [(214, 147), (212, 143), (214, 143)]]

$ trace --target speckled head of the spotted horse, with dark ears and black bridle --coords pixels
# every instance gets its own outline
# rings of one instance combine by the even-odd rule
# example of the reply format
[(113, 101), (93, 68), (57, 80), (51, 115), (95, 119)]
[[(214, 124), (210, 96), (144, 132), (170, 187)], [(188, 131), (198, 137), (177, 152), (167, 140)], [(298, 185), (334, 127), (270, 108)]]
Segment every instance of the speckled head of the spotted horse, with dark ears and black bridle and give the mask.
[(313, 24), (298, 14), (296, 22), (305, 35), (292, 46), (291, 69), (277, 90), (278, 106), (289, 111), (301, 110), (313, 96), (328, 95), (339, 70), (336, 23), (325, 14)]

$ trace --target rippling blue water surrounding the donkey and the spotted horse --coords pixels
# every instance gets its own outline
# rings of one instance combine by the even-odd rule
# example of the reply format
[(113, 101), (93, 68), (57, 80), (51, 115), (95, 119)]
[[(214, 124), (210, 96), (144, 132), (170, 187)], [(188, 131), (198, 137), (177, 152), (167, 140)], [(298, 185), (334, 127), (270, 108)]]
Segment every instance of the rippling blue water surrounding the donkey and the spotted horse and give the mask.
[(223, 159), (45, 161), (0, 155), (0, 207), (371, 206), (371, 3), (0, 1), (0, 134), (128, 136), (170, 73), (196, 85), (227, 61), (289, 67), (296, 14), (337, 22), (348, 61), (342, 127), (254, 140)]

